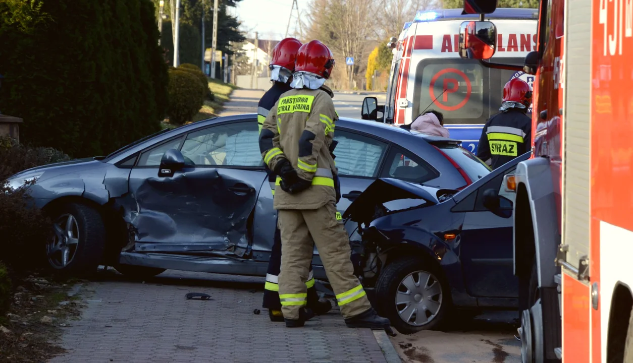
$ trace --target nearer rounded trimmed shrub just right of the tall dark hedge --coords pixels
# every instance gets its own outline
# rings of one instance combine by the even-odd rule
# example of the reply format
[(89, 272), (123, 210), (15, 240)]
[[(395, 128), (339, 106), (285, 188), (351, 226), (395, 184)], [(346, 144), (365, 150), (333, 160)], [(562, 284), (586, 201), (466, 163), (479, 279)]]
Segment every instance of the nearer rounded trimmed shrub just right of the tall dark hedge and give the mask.
[(170, 123), (184, 125), (203, 106), (203, 87), (196, 76), (188, 71), (172, 69), (169, 71), (169, 106), (167, 114)]

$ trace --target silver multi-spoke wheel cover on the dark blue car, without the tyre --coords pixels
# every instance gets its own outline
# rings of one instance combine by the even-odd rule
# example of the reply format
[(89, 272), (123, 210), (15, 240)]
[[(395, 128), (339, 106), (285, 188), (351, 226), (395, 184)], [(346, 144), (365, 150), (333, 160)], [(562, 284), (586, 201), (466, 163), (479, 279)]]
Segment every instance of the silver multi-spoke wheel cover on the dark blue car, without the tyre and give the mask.
[(442, 306), (442, 286), (428, 271), (408, 274), (396, 291), (398, 315), (407, 324), (423, 326), (430, 323)]

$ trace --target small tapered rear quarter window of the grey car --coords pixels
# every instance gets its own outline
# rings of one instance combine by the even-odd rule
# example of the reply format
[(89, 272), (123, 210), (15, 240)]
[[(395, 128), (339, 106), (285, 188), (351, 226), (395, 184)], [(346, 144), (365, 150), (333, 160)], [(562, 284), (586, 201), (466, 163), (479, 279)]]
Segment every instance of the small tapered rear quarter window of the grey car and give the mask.
[(439, 175), (436, 169), (428, 163), (399, 148), (389, 153), (386, 165), (383, 177), (406, 180), (412, 183), (427, 182)]

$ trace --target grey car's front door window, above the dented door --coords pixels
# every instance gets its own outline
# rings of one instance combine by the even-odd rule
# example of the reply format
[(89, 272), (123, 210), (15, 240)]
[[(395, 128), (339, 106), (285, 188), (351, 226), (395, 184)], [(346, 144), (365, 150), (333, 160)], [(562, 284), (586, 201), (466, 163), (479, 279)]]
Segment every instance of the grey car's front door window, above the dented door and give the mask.
[(216, 125), (187, 135), (182, 156), (195, 165), (263, 166), (255, 122)]

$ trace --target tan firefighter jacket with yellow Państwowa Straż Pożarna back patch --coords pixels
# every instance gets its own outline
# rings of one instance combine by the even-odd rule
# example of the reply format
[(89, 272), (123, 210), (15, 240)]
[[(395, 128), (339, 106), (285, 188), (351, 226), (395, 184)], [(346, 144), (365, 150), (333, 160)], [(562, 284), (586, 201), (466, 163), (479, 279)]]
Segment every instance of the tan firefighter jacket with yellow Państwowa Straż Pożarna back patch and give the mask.
[[(266, 166), (275, 170), (287, 159), (299, 178), (311, 186), (297, 194), (275, 188), (275, 209), (318, 209), (336, 203), (337, 173), (330, 153), (338, 116), (327, 86), (320, 89), (291, 89), (270, 110), (260, 133), (260, 151)], [(279, 186), (280, 178), (275, 184)]]

